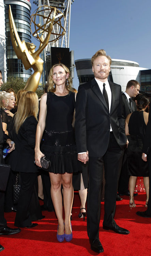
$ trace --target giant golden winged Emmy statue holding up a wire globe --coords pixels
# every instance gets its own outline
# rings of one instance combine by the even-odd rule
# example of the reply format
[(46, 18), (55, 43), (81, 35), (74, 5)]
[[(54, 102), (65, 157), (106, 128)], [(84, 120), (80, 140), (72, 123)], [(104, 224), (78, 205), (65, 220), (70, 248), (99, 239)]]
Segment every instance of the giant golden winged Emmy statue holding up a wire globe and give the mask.
[[(42, 8), (44, 9), (42, 10)], [(46, 10), (48, 15), (44, 16), (43, 13)], [(46, 22), (43, 25), (35, 24), (36, 16), (41, 16), (43, 20), (46, 19)], [(31, 21), (34, 23), (35, 27), (35, 32), (33, 33), (33, 36), (35, 37), (36, 35), (36, 39), (40, 41), (40, 46), (37, 51), (35, 51), (36, 46), (33, 43), (20, 40), (10, 6), (9, 26), (14, 51), (17, 58), (22, 60), (22, 63), (24, 64), (26, 70), (30, 68), (33, 68), (34, 70), (34, 73), (28, 78), (25, 86), (25, 89), (28, 91), (36, 91), (39, 85), (44, 64), (44, 61), (40, 58), (41, 52), (47, 46), (48, 42), (56, 41), (65, 34), (65, 29), (61, 26), (62, 16), (64, 17), (64, 15), (58, 9), (46, 5), (40, 6), (39, 8), (37, 8), (36, 14), (32, 14)], [(61, 29), (59, 33), (56, 33), (56, 37), (53, 40), (49, 41), (52, 27), (56, 25), (60, 26)], [(45, 40), (43, 38), (44, 32), (47, 33)], [(53, 34), (55, 35), (55, 33)]]

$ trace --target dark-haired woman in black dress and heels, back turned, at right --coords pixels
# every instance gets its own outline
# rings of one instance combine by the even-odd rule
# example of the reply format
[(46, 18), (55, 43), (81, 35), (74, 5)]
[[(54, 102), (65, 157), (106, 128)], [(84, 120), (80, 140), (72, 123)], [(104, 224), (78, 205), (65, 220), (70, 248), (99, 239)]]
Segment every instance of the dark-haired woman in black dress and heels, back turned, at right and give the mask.
[(147, 207), (149, 199), (149, 171), (148, 163), (141, 159), (142, 144), (144, 142), (146, 126), (148, 123), (148, 113), (145, 112), (149, 103), (149, 99), (144, 95), (137, 96), (137, 111), (129, 114), (125, 121), (125, 134), (131, 135), (129, 145), (127, 147), (127, 159), (129, 167), (129, 190), (130, 190), (130, 207), (136, 207), (134, 202), (134, 190), (137, 177), (144, 177), (144, 186), (146, 190)]

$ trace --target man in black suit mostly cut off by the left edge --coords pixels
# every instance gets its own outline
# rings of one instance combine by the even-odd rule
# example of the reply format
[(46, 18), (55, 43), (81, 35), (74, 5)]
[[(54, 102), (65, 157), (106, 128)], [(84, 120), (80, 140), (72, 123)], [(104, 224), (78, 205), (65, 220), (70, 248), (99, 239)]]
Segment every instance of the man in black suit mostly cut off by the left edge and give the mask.
[[(2, 72), (0, 70), (0, 87), (3, 84), (2, 81)], [(0, 113), (1, 115), (1, 113)], [(15, 144), (11, 145), (11, 139), (3, 132), (2, 128), (2, 122), (0, 118), (0, 163), (2, 163), (2, 157), (3, 157), (3, 142), (4, 140), (6, 143), (9, 144), (10, 147), (10, 152), (14, 150)], [(6, 219), (4, 218), (4, 191), (0, 191), (0, 235), (10, 235), (10, 234), (17, 234), (21, 231), (20, 228), (9, 228), (7, 227), (7, 222)], [(4, 250), (4, 247), (0, 245), (0, 252)]]

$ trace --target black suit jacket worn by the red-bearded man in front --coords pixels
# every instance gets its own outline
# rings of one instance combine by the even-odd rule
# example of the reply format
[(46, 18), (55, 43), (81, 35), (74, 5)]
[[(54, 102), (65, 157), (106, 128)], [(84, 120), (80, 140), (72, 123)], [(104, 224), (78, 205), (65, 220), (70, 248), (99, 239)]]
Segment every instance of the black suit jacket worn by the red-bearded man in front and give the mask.
[(89, 151), (89, 156), (101, 157), (107, 151), (110, 124), (121, 149), (126, 143), (121, 86), (109, 82), (110, 113), (95, 79), (78, 88), (76, 97), (75, 136), (77, 153)]

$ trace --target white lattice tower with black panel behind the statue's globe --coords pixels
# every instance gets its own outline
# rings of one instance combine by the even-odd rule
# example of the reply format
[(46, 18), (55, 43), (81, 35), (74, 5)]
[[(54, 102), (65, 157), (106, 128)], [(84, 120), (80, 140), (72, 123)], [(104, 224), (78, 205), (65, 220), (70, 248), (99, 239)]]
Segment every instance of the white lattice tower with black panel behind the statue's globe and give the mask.
[[(56, 7), (59, 11), (61, 11), (64, 14), (64, 18), (61, 19), (61, 25), (65, 29), (66, 33), (57, 41), (55, 40), (55, 35), (59, 33), (59, 26), (56, 24), (53, 26), (52, 32), (50, 35), (50, 41), (47, 47), (44, 49), (44, 63), (46, 64), (44, 67), (44, 70), (46, 70), (46, 73), (43, 74), (43, 78), (46, 77), (46, 80), (48, 78), (49, 70), (51, 66), (55, 63), (59, 62), (59, 60), (56, 60), (56, 58), (53, 58), (52, 56), (57, 56), (59, 51), (59, 55), (66, 56), (66, 60), (64, 59), (64, 64), (68, 66), (71, 70), (72, 78), (74, 77), (74, 51), (69, 51), (69, 41), (70, 41), (70, 17), (71, 17), (71, 4), (74, 2), (74, 0), (34, 0), (33, 3), (35, 3), (38, 7), (41, 5), (47, 5)], [(49, 13), (48, 13), (49, 14)], [(47, 16), (47, 13), (44, 13), (45, 16)], [(39, 23), (42, 24), (42, 20), (39, 20)], [(44, 34), (44, 38), (45, 38)], [(61, 49), (61, 48), (68, 48), (68, 49)], [(42, 57), (42, 55), (41, 55)], [(53, 59), (52, 59), (53, 58)], [(69, 59), (69, 61), (68, 61)], [(60, 62), (63, 62), (63, 59), (61, 59)], [(66, 63), (69, 62), (69, 65)], [(43, 80), (43, 84), (45, 81)]]

